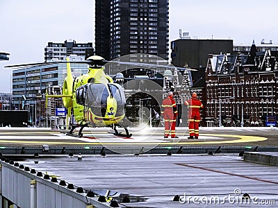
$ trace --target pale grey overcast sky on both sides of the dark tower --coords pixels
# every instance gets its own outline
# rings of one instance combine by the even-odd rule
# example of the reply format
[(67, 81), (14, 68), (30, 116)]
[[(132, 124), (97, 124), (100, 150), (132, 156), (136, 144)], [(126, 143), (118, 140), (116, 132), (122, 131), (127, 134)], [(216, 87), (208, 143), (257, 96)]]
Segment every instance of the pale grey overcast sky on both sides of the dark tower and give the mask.
[[(198, 39), (232, 39), (234, 43), (278, 43), (278, 1), (169, 0), (170, 41), (179, 29)], [(47, 42), (95, 42), (94, 0), (0, 0), (0, 92), (11, 92), (8, 64), (44, 61)]]

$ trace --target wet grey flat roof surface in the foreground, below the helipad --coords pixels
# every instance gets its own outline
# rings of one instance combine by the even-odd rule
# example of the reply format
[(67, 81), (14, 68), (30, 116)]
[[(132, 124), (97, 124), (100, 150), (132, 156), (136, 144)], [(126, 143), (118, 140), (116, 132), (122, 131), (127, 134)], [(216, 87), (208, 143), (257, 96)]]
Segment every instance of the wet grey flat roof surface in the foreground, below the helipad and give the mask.
[[(81, 160), (77, 155), (40, 155), (19, 164), (96, 193), (111, 190), (118, 202), (120, 194), (128, 195), (131, 202), (120, 207), (278, 205), (278, 166), (245, 162), (238, 154), (83, 155)], [(250, 202), (241, 202), (244, 193)], [(173, 201), (177, 195), (180, 202)]]

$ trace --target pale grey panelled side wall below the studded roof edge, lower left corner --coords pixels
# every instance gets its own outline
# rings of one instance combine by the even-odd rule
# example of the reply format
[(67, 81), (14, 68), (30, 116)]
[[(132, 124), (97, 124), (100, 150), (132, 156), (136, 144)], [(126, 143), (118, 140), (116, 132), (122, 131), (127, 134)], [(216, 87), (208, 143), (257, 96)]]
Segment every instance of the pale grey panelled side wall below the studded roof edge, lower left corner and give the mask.
[[(76, 190), (66, 189), (57, 183), (43, 180), (23, 169), (0, 162), (0, 208), (2, 196), (15, 203), (14, 207), (30, 208), (31, 206), (31, 180), (36, 180), (35, 193), (37, 208), (85, 208), (88, 200)], [(1, 196), (2, 193), (2, 196)], [(96, 207), (108, 207), (96, 200)]]

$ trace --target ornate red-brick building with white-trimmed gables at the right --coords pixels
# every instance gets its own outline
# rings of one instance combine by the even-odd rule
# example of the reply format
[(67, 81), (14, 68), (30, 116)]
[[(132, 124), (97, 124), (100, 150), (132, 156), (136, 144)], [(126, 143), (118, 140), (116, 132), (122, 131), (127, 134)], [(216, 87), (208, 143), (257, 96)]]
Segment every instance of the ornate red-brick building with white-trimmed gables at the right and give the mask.
[(263, 126), (276, 121), (278, 51), (209, 55), (206, 67), (207, 126)]

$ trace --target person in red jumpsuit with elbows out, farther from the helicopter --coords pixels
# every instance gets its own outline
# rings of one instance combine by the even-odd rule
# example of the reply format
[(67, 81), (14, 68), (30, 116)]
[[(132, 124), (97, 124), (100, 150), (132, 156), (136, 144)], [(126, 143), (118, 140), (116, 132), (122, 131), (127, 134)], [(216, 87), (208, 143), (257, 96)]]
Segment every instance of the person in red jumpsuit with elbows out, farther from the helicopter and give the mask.
[(188, 129), (189, 137), (188, 139), (198, 139), (199, 137), (199, 122), (201, 116), (199, 113), (200, 108), (203, 108), (203, 104), (197, 98), (197, 93), (193, 92), (192, 98), (184, 102), (188, 106)]

